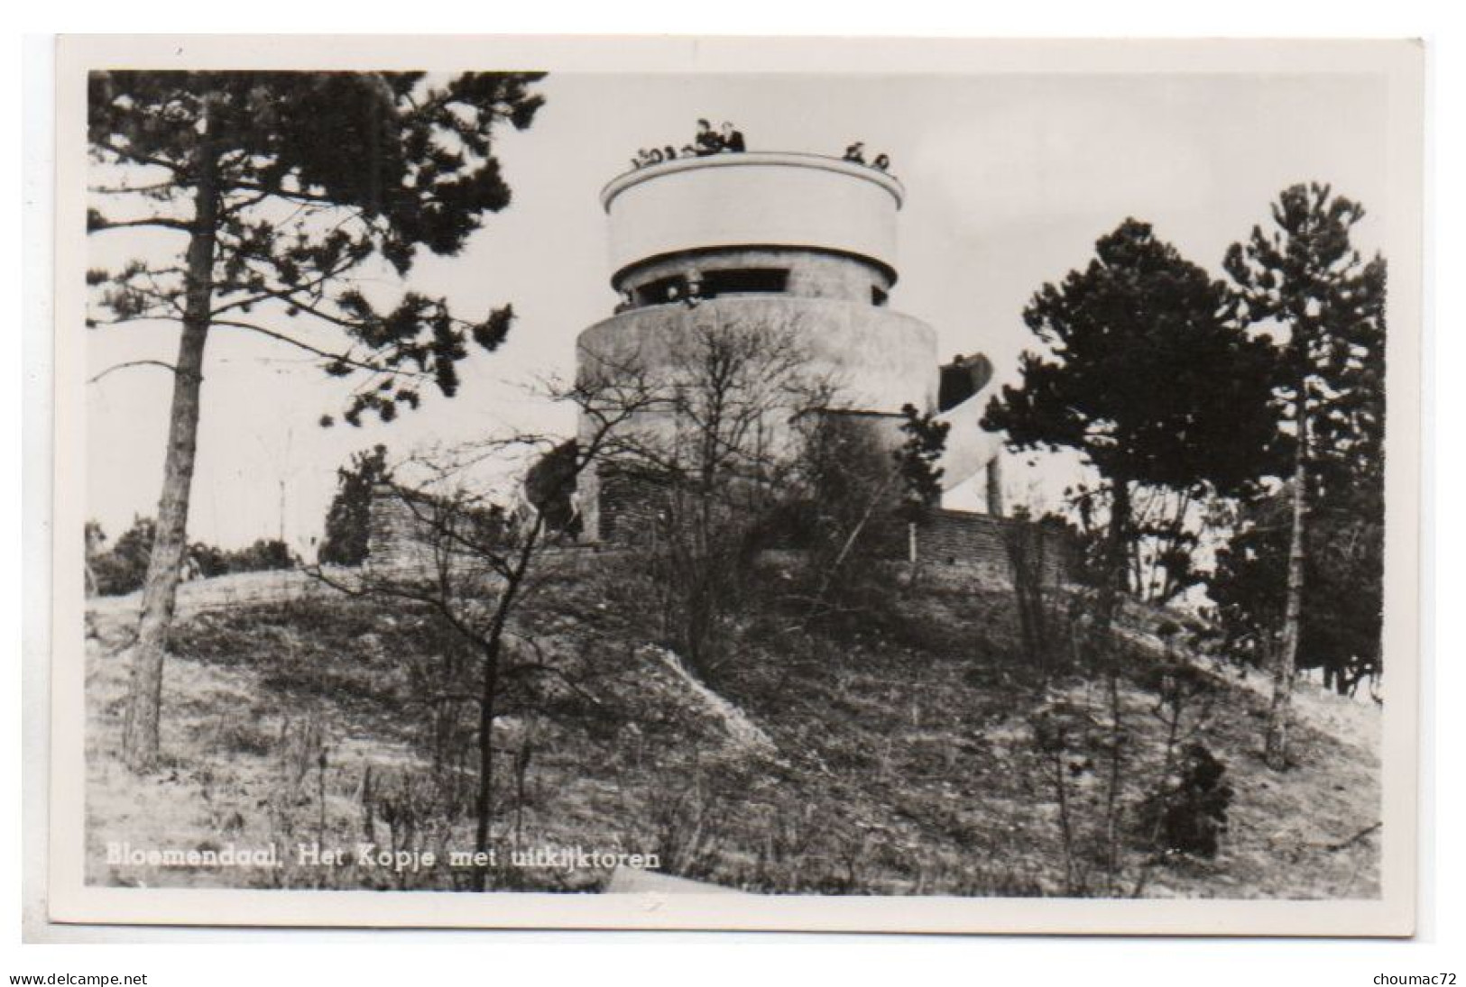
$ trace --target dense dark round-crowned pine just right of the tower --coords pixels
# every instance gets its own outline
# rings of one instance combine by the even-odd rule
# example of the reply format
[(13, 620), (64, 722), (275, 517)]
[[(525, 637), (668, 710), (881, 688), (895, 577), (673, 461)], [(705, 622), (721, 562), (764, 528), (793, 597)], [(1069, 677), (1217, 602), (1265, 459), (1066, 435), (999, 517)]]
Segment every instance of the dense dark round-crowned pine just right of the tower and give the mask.
[(1095, 258), (1045, 284), (1023, 321), (1045, 344), (1020, 360), (982, 426), (1013, 448), (1078, 451), (1105, 482), (1101, 614), (1129, 589), (1136, 485), (1230, 495), (1261, 472), (1272, 432), (1267, 346), (1226, 318), (1221, 281), (1126, 220)]

